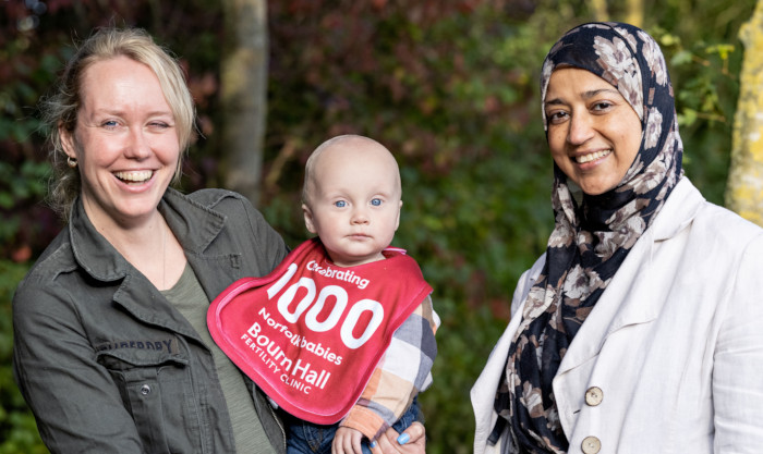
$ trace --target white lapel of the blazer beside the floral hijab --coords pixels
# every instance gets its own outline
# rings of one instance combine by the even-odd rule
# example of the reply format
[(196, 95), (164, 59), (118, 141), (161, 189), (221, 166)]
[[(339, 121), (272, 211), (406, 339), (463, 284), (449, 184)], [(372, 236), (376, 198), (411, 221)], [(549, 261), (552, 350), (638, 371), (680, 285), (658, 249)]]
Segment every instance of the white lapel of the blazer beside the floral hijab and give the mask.
[(609, 334), (626, 326), (649, 322), (658, 316), (664, 298), (657, 295), (670, 282), (663, 279), (652, 263), (654, 248), (691, 224), (704, 203), (705, 199), (688, 179), (682, 177), (678, 182), (654, 223), (628, 254), (594, 310), (581, 326), (559, 365), (556, 378), (597, 355)]

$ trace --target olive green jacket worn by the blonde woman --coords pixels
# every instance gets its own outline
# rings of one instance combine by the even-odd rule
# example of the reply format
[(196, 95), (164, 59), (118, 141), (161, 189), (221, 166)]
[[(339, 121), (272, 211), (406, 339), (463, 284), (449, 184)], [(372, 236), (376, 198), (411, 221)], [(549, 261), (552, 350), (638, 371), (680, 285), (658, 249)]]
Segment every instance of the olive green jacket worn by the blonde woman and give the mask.
[[(241, 195), (168, 189), (159, 211), (211, 300), (287, 254)], [(157, 253), (157, 259), (160, 259)], [(161, 293), (101, 236), (77, 201), (13, 298), (14, 373), (53, 453), (233, 453), (213, 356)], [(252, 389), (277, 452), (280, 420)]]

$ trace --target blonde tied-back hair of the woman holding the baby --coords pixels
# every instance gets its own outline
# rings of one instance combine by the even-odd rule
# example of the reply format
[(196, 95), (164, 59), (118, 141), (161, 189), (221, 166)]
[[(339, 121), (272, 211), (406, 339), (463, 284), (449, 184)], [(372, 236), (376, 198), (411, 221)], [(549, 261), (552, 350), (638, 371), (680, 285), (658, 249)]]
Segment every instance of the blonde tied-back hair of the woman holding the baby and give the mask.
[[(52, 145), (50, 161), (53, 168), (49, 203), (64, 221), (69, 220), (74, 199), (80, 194), (80, 172), (66, 164), (61, 142), (62, 128), (74, 134), (77, 112), (82, 106), (82, 79), (93, 64), (117, 57), (128, 57), (148, 66), (159, 79), (161, 91), (174, 116), (180, 149), (191, 143), (195, 110), (185, 76), (174, 57), (141, 28), (100, 28), (85, 39), (69, 60), (52, 94), (41, 101), (43, 120), (48, 126)], [(173, 182), (180, 179), (183, 154), (178, 161)]]

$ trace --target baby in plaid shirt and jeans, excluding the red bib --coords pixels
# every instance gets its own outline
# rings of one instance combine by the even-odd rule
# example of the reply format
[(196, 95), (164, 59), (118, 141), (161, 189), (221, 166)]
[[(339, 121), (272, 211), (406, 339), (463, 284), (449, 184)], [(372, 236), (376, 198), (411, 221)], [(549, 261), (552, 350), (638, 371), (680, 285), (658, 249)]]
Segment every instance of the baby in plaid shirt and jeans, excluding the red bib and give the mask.
[[(338, 269), (386, 260), (404, 253), (389, 248), (400, 222), (401, 195), (400, 172), (389, 150), (363, 136), (334, 137), (307, 160), (305, 225)], [(395, 286), (403, 271), (395, 270), (395, 260), (389, 263), (385, 285)], [(288, 453), (370, 453), (388, 427), (404, 430), (416, 419), (417, 393), (432, 382), (438, 324), (427, 294), (395, 331), (360, 400), (341, 421), (324, 426), (291, 418)]]

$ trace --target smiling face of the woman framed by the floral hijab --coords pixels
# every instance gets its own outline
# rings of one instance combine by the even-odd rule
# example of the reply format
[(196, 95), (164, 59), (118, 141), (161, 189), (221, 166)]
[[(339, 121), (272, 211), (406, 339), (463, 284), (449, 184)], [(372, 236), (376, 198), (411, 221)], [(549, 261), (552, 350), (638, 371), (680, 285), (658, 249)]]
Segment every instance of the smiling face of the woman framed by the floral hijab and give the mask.
[(567, 177), (589, 195), (615, 188), (641, 145), (641, 120), (617, 88), (589, 71), (558, 69), (544, 109), (548, 147)]

